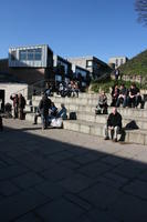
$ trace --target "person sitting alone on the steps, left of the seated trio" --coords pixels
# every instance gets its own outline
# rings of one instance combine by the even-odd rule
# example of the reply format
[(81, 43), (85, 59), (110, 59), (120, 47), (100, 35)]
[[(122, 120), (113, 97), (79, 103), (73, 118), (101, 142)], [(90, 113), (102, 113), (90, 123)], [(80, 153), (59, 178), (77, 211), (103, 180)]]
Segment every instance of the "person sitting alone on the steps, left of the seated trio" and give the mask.
[(98, 104), (96, 105), (95, 114), (107, 114), (107, 97), (104, 91), (101, 92)]

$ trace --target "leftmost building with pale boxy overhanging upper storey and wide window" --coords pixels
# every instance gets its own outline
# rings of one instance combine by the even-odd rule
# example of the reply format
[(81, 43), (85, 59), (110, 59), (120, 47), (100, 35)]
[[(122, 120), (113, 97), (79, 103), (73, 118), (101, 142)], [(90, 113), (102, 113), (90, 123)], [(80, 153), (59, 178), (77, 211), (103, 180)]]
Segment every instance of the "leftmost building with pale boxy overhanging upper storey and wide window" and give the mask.
[(48, 80), (53, 70), (53, 51), (48, 44), (10, 48), (8, 67), (9, 73), (28, 84)]

